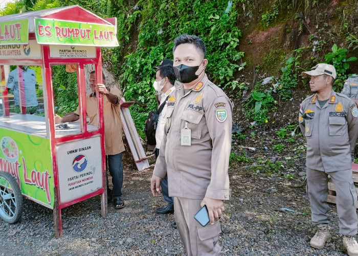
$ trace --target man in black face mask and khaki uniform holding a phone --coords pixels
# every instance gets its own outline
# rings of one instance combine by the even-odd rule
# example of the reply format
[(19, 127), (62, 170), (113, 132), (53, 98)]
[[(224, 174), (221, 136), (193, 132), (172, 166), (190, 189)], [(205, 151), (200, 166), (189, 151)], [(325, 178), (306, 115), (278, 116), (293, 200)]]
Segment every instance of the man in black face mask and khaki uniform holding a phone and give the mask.
[[(219, 216), (229, 199), (229, 156), (233, 104), (205, 74), (206, 47), (197, 36), (174, 41), (174, 72), (182, 86), (167, 101), (166, 126), (151, 178), (153, 196), (168, 174), (169, 196), (187, 255), (217, 255)], [(206, 205), (210, 224), (195, 221)]]

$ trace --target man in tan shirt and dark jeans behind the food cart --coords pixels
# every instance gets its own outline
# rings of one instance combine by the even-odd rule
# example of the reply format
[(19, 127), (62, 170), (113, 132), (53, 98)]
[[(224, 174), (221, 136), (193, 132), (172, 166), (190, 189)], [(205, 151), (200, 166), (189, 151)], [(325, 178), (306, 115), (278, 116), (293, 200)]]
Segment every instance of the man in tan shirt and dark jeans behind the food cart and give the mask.
[[(105, 87), (105, 77), (102, 74), (102, 83), (96, 84), (96, 74), (92, 71), (89, 74), (89, 87), (92, 93), (86, 96), (86, 113), (89, 117), (88, 124), (98, 126), (97, 98), (96, 93), (102, 93), (103, 117), (104, 117), (104, 144), (107, 166), (112, 176), (113, 189), (110, 190), (107, 182), (108, 200), (113, 199), (117, 209), (124, 207), (122, 196), (123, 165), (122, 152), (124, 144), (122, 140), (122, 122), (120, 115), (120, 91), (117, 88), (111, 90)], [(55, 122), (73, 122), (79, 119), (79, 108), (68, 116), (55, 116)]]

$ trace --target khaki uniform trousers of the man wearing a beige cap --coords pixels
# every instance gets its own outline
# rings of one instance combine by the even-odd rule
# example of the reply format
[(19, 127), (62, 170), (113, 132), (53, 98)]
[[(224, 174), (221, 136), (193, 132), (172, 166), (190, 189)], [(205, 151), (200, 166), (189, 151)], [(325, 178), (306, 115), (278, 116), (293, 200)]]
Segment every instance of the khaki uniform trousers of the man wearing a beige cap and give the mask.
[(354, 236), (357, 233), (358, 224), (355, 210), (357, 193), (351, 169), (325, 173), (307, 167), (307, 195), (311, 205), (312, 224), (329, 223), (329, 207), (326, 203), (328, 175), (330, 175), (337, 193), (336, 204), (340, 233), (345, 236)]

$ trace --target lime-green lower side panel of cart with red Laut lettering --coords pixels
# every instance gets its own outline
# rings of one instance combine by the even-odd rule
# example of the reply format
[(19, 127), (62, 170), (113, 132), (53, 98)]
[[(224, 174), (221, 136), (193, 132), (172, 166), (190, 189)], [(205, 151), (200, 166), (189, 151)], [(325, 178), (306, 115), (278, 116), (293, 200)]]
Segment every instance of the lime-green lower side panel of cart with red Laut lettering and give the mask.
[(0, 171), (15, 178), (22, 194), (53, 209), (50, 140), (2, 128), (0, 134)]

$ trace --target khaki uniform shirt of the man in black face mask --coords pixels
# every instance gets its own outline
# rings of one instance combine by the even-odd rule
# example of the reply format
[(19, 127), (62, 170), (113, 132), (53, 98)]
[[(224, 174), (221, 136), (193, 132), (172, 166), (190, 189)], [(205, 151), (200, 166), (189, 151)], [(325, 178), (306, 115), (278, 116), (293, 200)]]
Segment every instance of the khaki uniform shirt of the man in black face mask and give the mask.
[[(166, 124), (153, 174), (168, 173), (169, 196), (229, 199), (233, 104), (205, 75), (184, 95), (183, 85), (167, 101)], [(191, 145), (181, 145), (187, 123)]]

